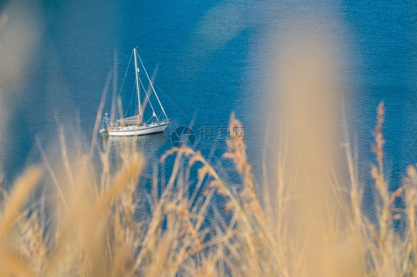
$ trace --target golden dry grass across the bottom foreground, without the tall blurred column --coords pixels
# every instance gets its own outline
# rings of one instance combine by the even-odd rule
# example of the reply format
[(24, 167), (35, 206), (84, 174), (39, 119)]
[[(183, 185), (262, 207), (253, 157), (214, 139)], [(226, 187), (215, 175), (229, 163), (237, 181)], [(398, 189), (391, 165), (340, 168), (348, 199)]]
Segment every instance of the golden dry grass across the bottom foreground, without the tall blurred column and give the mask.
[[(224, 155), (241, 175), (241, 189), (227, 184), (200, 152), (172, 149), (161, 158), (175, 155), (169, 180), (160, 184), (155, 172), (146, 198), (138, 194), (144, 159), (134, 146), (124, 147), (117, 167), (102, 153), (99, 168), (92, 156), (72, 159), (63, 146), (64, 173), (44, 166), (56, 197), (42, 194), (29, 202), (35, 186), (48, 179), (39, 167), (28, 169), (10, 193), (2, 190), (1, 276), (415, 276), (416, 168), (408, 167), (399, 190), (387, 190), (383, 118), (381, 104), (373, 146), (378, 164), (371, 171), (377, 224), (363, 215), (354, 181), (349, 193), (336, 185), (330, 192), (339, 204), (316, 203), (311, 196), (301, 209), (309, 214), (289, 219), (287, 214), (297, 215), (292, 205), (301, 203), (281, 167), (278, 195), (266, 193), (261, 204), (244, 149)], [(240, 126), (232, 116), (230, 128)], [(353, 170), (350, 152), (347, 146)], [(193, 167), (198, 180), (189, 186)], [(223, 206), (212, 201), (215, 194), (225, 199)], [(398, 197), (404, 210), (394, 206)], [(393, 226), (398, 219), (406, 224), (401, 233)]]

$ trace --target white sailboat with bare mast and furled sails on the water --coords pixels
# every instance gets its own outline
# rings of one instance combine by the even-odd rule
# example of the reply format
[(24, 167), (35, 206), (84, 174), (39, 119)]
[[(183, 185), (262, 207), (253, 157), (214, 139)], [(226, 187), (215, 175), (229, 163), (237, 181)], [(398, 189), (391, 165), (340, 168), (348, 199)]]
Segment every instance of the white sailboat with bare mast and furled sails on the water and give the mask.
[[(111, 118), (108, 117), (108, 114), (106, 113), (103, 118), (103, 129), (100, 130), (100, 133), (103, 135), (132, 136), (132, 135), (151, 134), (151, 133), (164, 131), (165, 128), (169, 124), (169, 119), (165, 114), (165, 111), (159, 100), (158, 94), (155, 91), (152, 81), (150, 80), (149, 75), (146, 72), (142, 59), (141, 57), (139, 57), (136, 51), (136, 47), (133, 48), (132, 54), (135, 60), (135, 87), (136, 87), (136, 92), (138, 95), (139, 113), (134, 116), (118, 119), (115, 122), (113, 122)], [(160, 113), (159, 117), (157, 117), (157, 115), (155, 114), (154, 107), (152, 106), (152, 103), (149, 100), (149, 96), (146, 93), (146, 90), (144, 89), (142, 80), (139, 77), (138, 59), (141, 62), (142, 68), (144, 69), (144, 73), (147, 77), (147, 80), (149, 81), (150, 87), (152, 88), (152, 91), (155, 94), (156, 99), (158, 100), (158, 103), (160, 105), (162, 112)], [(130, 61), (129, 61), (129, 65), (130, 65)], [(150, 117), (147, 121), (144, 121), (144, 117), (143, 117), (140, 86), (143, 87), (146, 100), (149, 102), (149, 105), (152, 108), (152, 117)]]

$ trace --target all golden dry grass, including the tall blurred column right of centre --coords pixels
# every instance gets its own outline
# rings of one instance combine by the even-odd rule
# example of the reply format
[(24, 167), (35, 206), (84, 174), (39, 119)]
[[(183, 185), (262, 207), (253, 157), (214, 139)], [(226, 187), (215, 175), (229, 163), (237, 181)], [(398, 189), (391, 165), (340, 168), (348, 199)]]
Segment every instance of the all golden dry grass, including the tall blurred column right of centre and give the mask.
[[(22, 12), (18, 17), (32, 14), (20, 6), (15, 9)], [(28, 21), (34, 30), (39, 29), (35, 21)], [(3, 55), (4, 64), (12, 66), (2, 73), (18, 80), (24, 65), (18, 61), (31, 56), (37, 32), (25, 25), (16, 32), (15, 27), (2, 29), (3, 40), (15, 48), (2, 46), (10, 54)], [(233, 180), (238, 185), (227, 183), (200, 152), (172, 149), (160, 160), (175, 157), (169, 178), (158, 178), (156, 166), (147, 193), (139, 186), (145, 160), (134, 140), (119, 145), (118, 162), (109, 148), (99, 151), (97, 164), (98, 124), (87, 150), (68, 146), (61, 134), (59, 162), (49, 160), (41, 149), (42, 164), (28, 168), (15, 184), (1, 184), (0, 277), (417, 276), (416, 165), (407, 168), (398, 190), (388, 190), (381, 104), (372, 146), (377, 164), (369, 172), (375, 181), (376, 218), (368, 219), (349, 136), (344, 143), (348, 182), (335, 170), (341, 157), (328, 151), (339, 143), (329, 135), (338, 111), (334, 103), (328, 104), (341, 98), (329, 85), (338, 84), (329, 81), (337, 72), (337, 56), (332, 47), (321, 45), (325, 35), (316, 37), (314, 28), (307, 27), (289, 30), (298, 36), (289, 36), (289, 45), (279, 49), (283, 76), (278, 83), (286, 92), (280, 107), (289, 139), (277, 143), (276, 181), (267, 178), (264, 164), (264, 182), (255, 183), (241, 147), (224, 154), (241, 177)], [(211, 46), (226, 40), (218, 41)], [(116, 68), (117, 59), (113, 103)], [(123, 114), (121, 102), (117, 105)], [(97, 122), (103, 106), (104, 98)], [(113, 105), (112, 115), (115, 109)], [(10, 125), (7, 119), (0, 129)], [(232, 116), (230, 128), (235, 127), (241, 123)], [(236, 138), (227, 144), (243, 141)], [(401, 209), (395, 205), (398, 199), (403, 200)], [(397, 221), (404, 227), (396, 228)]]

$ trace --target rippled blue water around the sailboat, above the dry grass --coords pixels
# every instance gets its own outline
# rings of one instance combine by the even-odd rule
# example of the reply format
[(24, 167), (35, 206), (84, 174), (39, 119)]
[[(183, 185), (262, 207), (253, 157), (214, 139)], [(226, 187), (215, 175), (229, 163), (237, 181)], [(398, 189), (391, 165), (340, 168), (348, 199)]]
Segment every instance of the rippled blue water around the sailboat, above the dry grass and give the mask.
[[(322, 19), (335, 41), (348, 125), (358, 146), (364, 201), (372, 202), (369, 166), (376, 107), (385, 102), (385, 173), (394, 190), (417, 162), (417, 5), (414, 1), (2, 1), (0, 3), (0, 158), (10, 182), (40, 160), (36, 141), (58, 149), (57, 120), (68, 140), (79, 122), (91, 141), (109, 73), (105, 112), (133, 46), (152, 73), (172, 129), (226, 126), (231, 112), (246, 127), (248, 156), (260, 173), (279, 36), (288, 18)], [(7, 16), (5, 16), (7, 15)], [(12, 58), (8, 58), (12, 57)], [(116, 71), (113, 71), (116, 60)], [(15, 69), (16, 68), (16, 69)], [(130, 94), (122, 95), (127, 105)], [(144, 139), (145, 155), (172, 147), (170, 130)], [(198, 147), (198, 144), (195, 146)], [(210, 151), (205, 151), (209, 155)], [(211, 153), (216, 163), (223, 151)]]

